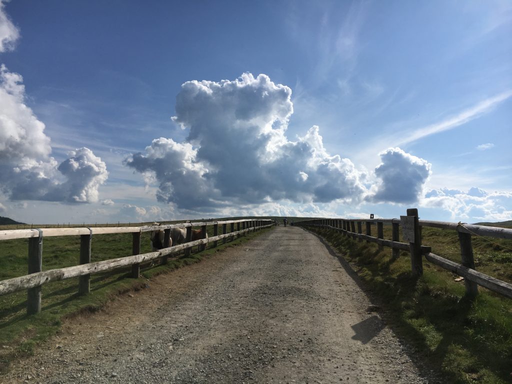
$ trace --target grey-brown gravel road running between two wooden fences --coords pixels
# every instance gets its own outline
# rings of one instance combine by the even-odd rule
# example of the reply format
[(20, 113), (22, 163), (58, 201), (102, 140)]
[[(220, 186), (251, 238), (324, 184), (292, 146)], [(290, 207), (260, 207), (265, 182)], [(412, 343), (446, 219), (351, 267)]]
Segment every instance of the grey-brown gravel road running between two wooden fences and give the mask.
[(71, 319), (0, 382), (441, 382), (344, 265), (313, 234), (276, 227)]

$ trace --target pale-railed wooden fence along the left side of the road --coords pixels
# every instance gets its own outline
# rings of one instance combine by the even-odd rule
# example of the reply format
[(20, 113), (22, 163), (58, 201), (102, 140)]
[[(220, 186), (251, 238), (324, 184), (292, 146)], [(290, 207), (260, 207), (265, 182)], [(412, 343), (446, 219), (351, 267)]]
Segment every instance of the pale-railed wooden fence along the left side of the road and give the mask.
[[(227, 225), (230, 231), (227, 231)], [(214, 236), (206, 238), (206, 227), (212, 225)], [(222, 234), (219, 233), (219, 225), (222, 226)], [(235, 225), (237, 229), (235, 230)], [(200, 246), (201, 249), (208, 243), (214, 243), (217, 247), (218, 241), (224, 243), (228, 238), (234, 238), (240, 234), (258, 231), (275, 225), (272, 220), (244, 219), (230, 221), (215, 221), (201, 223), (165, 224), (160, 226), (142, 227), (99, 227), (99, 228), (44, 228), (44, 229), (13, 229), (0, 231), (0, 241), (10, 239), (29, 239), (28, 245), (28, 275), (18, 278), (0, 281), (0, 296), (9, 293), (27, 290), (27, 313), (33, 314), (41, 311), (41, 286), (52, 281), (66, 280), (79, 276), (78, 293), (90, 292), (91, 274), (102, 271), (132, 266), (133, 278), (139, 278), (140, 264), (143, 262), (161, 259), (161, 264), (166, 264), (169, 255), (185, 251), (190, 253), (190, 248)], [(191, 241), (192, 227), (200, 226), (201, 239)], [(172, 228), (186, 228), (186, 243), (169, 247), (170, 231)], [(140, 239), (142, 232), (155, 229), (164, 230), (164, 246), (159, 251), (140, 254)], [(93, 234), (105, 233), (132, 233), (132, 255), (124, 258), (111, 259), (91, 263), (91, 242)], [(80, 265), (51, 269), (42, 271), (42, 240), (51, 236), (80, 236)]]

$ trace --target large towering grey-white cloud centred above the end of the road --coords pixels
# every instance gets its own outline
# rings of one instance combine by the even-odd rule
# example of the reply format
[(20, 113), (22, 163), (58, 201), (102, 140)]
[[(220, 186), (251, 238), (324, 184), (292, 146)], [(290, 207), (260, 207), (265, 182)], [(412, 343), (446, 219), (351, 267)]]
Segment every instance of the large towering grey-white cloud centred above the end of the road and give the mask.
[(159, 183), (158, 199), (180, 208), (295, 202), (357, 201), (365, 191), (349, 159), (327, 153), (317, 126), (285, 136), (291, 90), (266, 75), (188, 81), (173, 120), (184, 143), (160, 138), (126, 164)]

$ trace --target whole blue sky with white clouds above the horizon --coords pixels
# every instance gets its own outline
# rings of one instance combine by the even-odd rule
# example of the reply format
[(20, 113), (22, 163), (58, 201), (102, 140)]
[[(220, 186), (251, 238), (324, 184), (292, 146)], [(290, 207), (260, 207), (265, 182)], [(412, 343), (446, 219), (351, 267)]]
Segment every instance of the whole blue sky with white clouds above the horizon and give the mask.
[(1, 4), (1, 216), (512, 220), (509, 1)]

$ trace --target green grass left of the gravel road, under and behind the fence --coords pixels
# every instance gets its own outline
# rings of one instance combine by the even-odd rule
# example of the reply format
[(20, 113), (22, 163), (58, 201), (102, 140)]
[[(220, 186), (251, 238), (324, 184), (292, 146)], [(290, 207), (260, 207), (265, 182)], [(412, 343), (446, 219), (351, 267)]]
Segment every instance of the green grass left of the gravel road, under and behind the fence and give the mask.
[[(91, 292), (79, 296), (78, 278), (52, 282), (42, 287), (41, 313), (26, 314), (27, 292), (21, 291), (0, 296), (0, 374), (8, 370), (16, 358), (30, 355), (40, 343), (59, 331), (62, 322), (69, 317), (84, 312), (100, 310), (116, 296), (144, 289), (151, 285), (151, 279), (185, 265), (200, 262), (227, 247), (245, 243), (272, 228), (247, 233), (237, 239), (220, 240), (218, 247), (212, 244), (202, 252), (169, 259), (166, 265), (141, 266), (140, 279), (131, 277), (131, 267), (91, 275)], [(211, 236), (211, 234), (209, 234)], [(27, 239), (6, 240), (2, 243), (0, 280), (26, 274)], [(79, 237), (53, 237), (44, 240), (43, 269), (72, 266), (77, 264)], [(130, 233), (117, 233), (109, 236), (97, 235), (93, 238), (91, 261), (114, 259), (131, 254), (132, 236)], [(151, 251), (149, 232), (143, 233), (141, 253)], [(7, 267), (8, 266), (8, 267)]]

